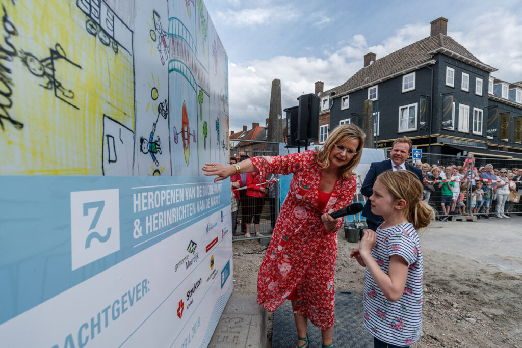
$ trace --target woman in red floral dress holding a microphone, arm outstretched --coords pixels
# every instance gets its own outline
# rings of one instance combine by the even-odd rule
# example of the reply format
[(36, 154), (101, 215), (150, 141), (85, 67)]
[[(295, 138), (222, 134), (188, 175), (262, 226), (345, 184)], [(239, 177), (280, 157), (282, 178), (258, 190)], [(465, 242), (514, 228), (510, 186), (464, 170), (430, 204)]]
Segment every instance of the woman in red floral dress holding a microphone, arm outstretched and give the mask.
[(332, 347), (335, 313), (334, 271), (337, 230), (342, 218), (330, 213), (348, 206), (355, 195), (352, 169), (359, 163), (364, 133), (341, 125), (316, 151), (286, 156), (255, 157), (236, 165), (207, 163), (205, 175), (257, 173), (293, 174), (277, 218), (270, 245), (257, 277), (257, 302), (274, 311), (292, 300), (298, 347), (308, 347), (306, 321), (321, 329), (323, 346)]

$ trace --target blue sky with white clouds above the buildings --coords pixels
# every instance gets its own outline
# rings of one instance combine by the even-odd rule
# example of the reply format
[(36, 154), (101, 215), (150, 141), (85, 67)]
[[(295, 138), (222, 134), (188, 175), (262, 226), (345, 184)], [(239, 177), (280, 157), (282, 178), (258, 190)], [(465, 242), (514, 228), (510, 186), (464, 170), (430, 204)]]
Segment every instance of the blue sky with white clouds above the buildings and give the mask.
[(349, 79), (362, 68), (364, 54), (378, 59), (428, 37), (430, 21), (441, 16), (450, 37), (499, 69), (494, 77), (520, 81), (520, 1), (496, 3), (207, 0), (229, 55), (230, 130), (265, 124), (273, 79), (281, 80), (282, 109), (295, 106), (299, 95), (314, 92), (315, 81), (327, 90)]

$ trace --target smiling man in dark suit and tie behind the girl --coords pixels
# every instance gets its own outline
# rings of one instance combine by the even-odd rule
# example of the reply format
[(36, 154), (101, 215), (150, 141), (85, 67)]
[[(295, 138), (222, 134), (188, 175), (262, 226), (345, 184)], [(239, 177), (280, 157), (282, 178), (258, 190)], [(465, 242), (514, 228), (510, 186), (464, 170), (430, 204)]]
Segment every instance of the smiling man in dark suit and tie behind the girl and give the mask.
[[(364, 178), (364, 183), (361, 187), (361, 193), (366, 197), (373, 195), (373, 184), (375, 183), (377, 176), (390, 170), (393, 170), (394, 172), (397, 170), (407, 170), (413, 172), (414, 174), (417, 174), (420, 182), (422, 183), (422, 171), (419, 168), (405, 163), (406, 160), (410, 157), (411, 146), (411, 140), (406, 137), (396, 139), (392, 144), (392, 152), (390, 153), (391, 159), (381, 162), (373, 162), (370, 164), (370, 170), (368, 173), (366, 173), (366, 177)], [(373, 231), (377, 230), (377, 227), (384, 221), (381, 215), (375, 215), (372, 213), (369, 199), (366, 200), (362, 215), (366, 218), (366, 224), (368, 225), (368, 228)]]

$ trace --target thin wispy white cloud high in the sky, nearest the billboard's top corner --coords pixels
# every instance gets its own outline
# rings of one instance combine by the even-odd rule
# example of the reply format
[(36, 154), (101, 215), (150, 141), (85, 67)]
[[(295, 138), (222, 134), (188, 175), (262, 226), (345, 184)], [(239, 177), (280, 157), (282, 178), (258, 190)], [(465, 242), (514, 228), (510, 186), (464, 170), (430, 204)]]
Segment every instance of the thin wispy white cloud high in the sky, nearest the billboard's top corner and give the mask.
[(282, 20), (292, 20), (299, 17), (299, 14), (290, 6), (270, 6), (246, 8), (241, 10), (228, 9), (218, 11), (212, 16), (218, 23), (229, 27), (248, 27), (265, 25)]

